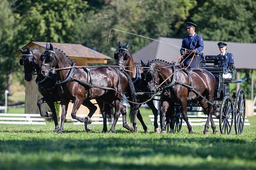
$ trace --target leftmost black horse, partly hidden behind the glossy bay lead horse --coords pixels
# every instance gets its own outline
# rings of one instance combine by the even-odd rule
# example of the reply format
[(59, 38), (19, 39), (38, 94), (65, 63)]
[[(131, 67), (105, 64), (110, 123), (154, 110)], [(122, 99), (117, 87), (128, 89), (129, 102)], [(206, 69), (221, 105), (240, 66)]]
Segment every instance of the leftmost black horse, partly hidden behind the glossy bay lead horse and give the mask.
[[(19, 47), (20, 48), (20, 47)], [(49, 44), (46, 43), (46, 48), (49, 48)], [(49, 75), (47, 77), (42, 76), (39, 74), (39, 70), (41, 68), (41, 55), (44, 53), (43, 51), (32, 48), (29, 49), (27, 46), (27, 49), (23, 51), (20, 48), (20, 52), (22, 53), (22, 57), (20, 58), (20, 65), (24, 66), (24, 73), (25, 73), (25, 80), (26, 81), (31, 81), (33, 78), (33, 74), (36, 72), (37, 78), (36, 78), (36, 84), (38, 85), (38, 90), (43, 96), (41, 99), (38, 100), (37, 106), (40, 111), (40, 115), (42, 117), (52, 117), (55, 123), (55, 130), (54, 132), (59, 131), (59, 125), (58, 125), (58, 120), (57, 120), (57, 113), (55, 110), (54, 102), (60, 101), (60, 96), (58, 94), (57, 86), (56, 86), (56, 80), (57, 78), (57, 73), (55, 70), (52, 72), (49, 72)], [(46, 111), (42, 109), (42, 104), (47, 103), (48, 106), (50, 107), (52, 112)], [(91, 103), (91, 101), (86, 101), (83, 103), (84, 106), (86, 106), (90, 112), (89, 114), (93, 114), (96, 110), (97, 107)], [(108, 108), (108, 107), (107, 107)], [(110, 112), (112, 110), (111, 108), (108, 108)], [(85, 130), (90, 131), (91, 127), (89, 124), (85, 124)]]

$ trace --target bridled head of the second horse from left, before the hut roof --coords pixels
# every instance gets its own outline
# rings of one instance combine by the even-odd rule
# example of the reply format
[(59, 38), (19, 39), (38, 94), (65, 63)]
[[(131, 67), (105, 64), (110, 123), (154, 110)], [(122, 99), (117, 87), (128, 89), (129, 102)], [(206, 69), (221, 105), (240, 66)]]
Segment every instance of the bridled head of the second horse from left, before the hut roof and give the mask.
[(56, 49), (53, 48), (52, 44), (50, 46), (46, 43), (46, 50), (41, 56), (41, 68), (39, 73), (42, 76), (48, 76), (49, 72), (53, 71), (53, 67), (57, 66), (57, 58), (55, 55)]

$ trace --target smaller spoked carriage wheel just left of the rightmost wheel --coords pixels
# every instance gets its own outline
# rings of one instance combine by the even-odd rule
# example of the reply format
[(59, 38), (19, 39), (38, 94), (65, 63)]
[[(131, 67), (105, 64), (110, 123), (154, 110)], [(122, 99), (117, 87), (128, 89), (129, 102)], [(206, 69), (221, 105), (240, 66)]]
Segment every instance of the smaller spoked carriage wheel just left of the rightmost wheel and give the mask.
[(229, 96), (225, 96), (220, 105), (220, 133), (230, 134), (234, 123), (234, 102)]

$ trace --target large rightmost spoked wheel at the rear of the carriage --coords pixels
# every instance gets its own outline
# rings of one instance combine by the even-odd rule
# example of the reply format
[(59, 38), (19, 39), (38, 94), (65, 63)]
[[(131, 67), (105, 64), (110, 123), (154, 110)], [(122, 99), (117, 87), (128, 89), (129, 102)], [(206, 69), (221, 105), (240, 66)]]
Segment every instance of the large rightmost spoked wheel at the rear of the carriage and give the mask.
[(245, 94), (244, 89), (239, 89), (236, 94), (236, 116), (235, 116), (235, 131), (236, 134), (242, 134), (245, 121)]

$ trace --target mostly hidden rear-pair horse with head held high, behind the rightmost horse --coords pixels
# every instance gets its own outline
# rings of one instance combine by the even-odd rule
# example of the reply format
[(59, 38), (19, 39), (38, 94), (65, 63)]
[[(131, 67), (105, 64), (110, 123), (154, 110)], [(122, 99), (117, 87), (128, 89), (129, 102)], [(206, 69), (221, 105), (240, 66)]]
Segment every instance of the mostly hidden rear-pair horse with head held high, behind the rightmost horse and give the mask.
[[(126, 43), (126, 45), (122, 45), (121, 40), (118, 44), (118, 50), (115, 51), (114, 58), (116, 59), (116, 64), (120, 67), (118, 67), (120, 70), (127, 72), (129, 76), (133, 80), (133, 84), (135, 87), (135, 90), (137, 92), (146, 92), (147, 91), (147, 84), (145, 79), (142, 79), (140, 74), (143, 73), (141, 69), (136, 68), (136, 64), (133, 61), (132, 53), (128, 49), (129, 47), (129, 40)], [(128, 67), (124, 67), (128, 66)], [(125, 70), (124, 70), (125, 69)], [(150, 97), (147, 95), (138, 95), (137, 101), (138, 103), (146, 102)], [(158, 116), (158, 110), (156, 109), (153, 100), (150, 100), (147, 102), (148, 107), (152, 110), (154, 114), (154, 130), (155, 132), (160, 132), (160, 129), (158, 128), (157, 124), (157, 116)], [(140, 108), (141, 104), (138, 106)], [(143, 129), (145, 132), (148, 132), (148, 128), (146, 124), (144, 123), (142, 116), (140, 114), (140, 110), (138, 110), (137, 117), (140, 120)]]

